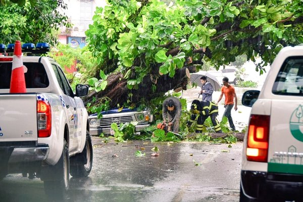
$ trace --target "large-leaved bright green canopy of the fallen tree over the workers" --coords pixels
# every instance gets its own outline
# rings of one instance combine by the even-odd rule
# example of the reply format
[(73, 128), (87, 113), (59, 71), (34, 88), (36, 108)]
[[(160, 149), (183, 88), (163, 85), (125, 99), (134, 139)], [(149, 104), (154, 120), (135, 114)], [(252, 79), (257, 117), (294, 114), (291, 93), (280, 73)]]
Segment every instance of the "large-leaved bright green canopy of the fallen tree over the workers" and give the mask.
[[(99, 70), (116, 72), (115, 85), (123, 86), (119, 95), (137, 93), (138, 101), (179, 87), (180, 82), (172, 83), (183, 80), (185, 71), (179, 71), (202, 59), (218, 69), (239, 55), (261, 57), (264, 63), (256, 71), (262, 74), (283, 46), (302, 43), (302, 9), (300, 0), (108, 0), (86, 31), (99, 64), (94, 76), (100, 78)], [(93, 96), (105, 95), (109, 91)]]

